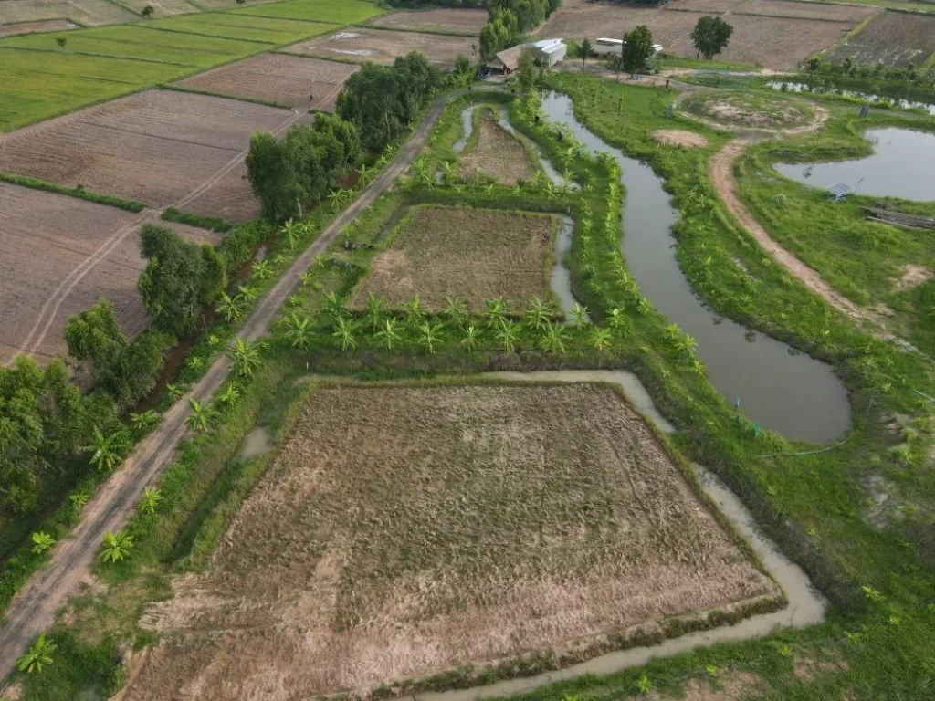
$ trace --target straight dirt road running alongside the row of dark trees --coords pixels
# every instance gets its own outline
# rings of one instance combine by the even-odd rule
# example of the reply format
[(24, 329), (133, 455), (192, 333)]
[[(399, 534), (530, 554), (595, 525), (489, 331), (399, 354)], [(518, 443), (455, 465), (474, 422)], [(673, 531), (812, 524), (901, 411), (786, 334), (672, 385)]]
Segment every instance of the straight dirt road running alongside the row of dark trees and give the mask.
[[(253, 309), (250, 318), (237, 333), (237, 338), (252, 340), (266, 335), (277, 311), (294, 292), (299, 277), (308, 270), (314, 257), (328, 248), (346, 224), (389, 190), (422, 150), (426, 137), (445, 107), (446, 99), (446, 96), (442, 96), (436, 100), (394, 161), (282, 274), (276, 286)], [(120, 468), (88, 502), (81, 522), (69, 537), (55, 547), (49, 564), (22, 587), (7, 610), (6, 624), (0, 628), (0, 674), (11, 670), (17, 657), (29, 647), (33, 639), (50, 628), (55, 620), (55, 612), (75, 593), (82, 579), (90, 576), (91, 565), (104, 534), (122, 527), (134, 512), (143, 487), (158, 479), (163, 467), (172, 460), (180, 439), (187, 433), (185, 418), (189, 413), (189, 397), (208, 402), (229, 371), (230, 361), (226, 357), (219, 358), (192, 391), (165, 412), (163, 423), (137, 444)], [(0, 681), (0, 693), (4, 688), (6, 681)]]

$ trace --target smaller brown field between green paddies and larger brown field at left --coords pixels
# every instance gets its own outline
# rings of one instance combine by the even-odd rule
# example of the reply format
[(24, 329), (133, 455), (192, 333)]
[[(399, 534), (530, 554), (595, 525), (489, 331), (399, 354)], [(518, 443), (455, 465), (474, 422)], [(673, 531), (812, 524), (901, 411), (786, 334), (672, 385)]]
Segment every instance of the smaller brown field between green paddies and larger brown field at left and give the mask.
[(253, 97), (285, 107), (335, 108), (338, 93), (356, 66), (280, 53), (262, 53), (199, 73), (177, 85), (232, 97)]

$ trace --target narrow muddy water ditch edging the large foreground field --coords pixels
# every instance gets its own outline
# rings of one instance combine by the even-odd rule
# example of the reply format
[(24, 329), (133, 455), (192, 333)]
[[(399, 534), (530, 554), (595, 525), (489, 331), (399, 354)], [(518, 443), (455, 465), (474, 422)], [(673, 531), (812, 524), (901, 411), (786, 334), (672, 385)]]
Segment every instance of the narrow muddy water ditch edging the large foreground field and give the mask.
[[(640, 380), (624, 370), (568, 370), (535, 373), (489, 373), (488, 377), (518, 380), (554, 380), (563, 382), (606, 381), (620, 385), (631, 404), (640, 410), (660, 430), (670, 432), (672, 426), (654, 408), (653, 402), (640, 384)], [(733, 523), (737, 532), (755, 551), (760, 562), (779, 582), (788, 599), (788, 605), (773, 613), (751, 616), (736, 625), (723, 626), (710, 631), (689, 633), (682, 637), (641, 648), (610, 652), (580, 665), (568, 666), (537, 677), (498, 681), (495, 684), (458, 689), (450, 692), (416, 694), (418, 701), (474, 701), (495, 696), (522, 694), (556, 681), (572, 680), (585, 674), (606, 675), (627, 667), (641, 666), (655, 657), (667, 657), (679, 652), (730, 640), (747, 640), (769, 635), (774, 628), (793, 626), (804, 628), (825, 618), (827, 602), (818, 594), (811, 581), (798, 565), (784, 556), (772, 541), (760, 534), (751, 513), (741, 500), (701, 465), (693, 465), (702, 489), (717, 508)]]

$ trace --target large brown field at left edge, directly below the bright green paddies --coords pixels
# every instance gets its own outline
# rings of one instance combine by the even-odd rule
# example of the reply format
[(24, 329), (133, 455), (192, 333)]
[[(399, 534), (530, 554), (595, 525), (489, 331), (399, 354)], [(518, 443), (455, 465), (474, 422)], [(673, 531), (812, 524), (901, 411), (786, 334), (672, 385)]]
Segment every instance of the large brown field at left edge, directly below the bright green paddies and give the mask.
[(0, 170), (243, 222), (259, 209), (243, 179), (250, 136), (303, 118), (309, 115), (147, 91), (0, 136)]

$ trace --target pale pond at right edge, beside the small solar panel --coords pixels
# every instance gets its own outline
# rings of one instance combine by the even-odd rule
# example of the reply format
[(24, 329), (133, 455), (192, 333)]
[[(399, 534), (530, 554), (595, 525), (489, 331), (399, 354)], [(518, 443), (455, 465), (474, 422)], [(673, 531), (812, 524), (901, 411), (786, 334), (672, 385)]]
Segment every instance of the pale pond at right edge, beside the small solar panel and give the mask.
[(859, 194), (935, 200), (935, 134), (886, 127), (865, 134), (873, 154), (854, 161), (775, 164), (786, 178), (828, 188), (838, 182)]

